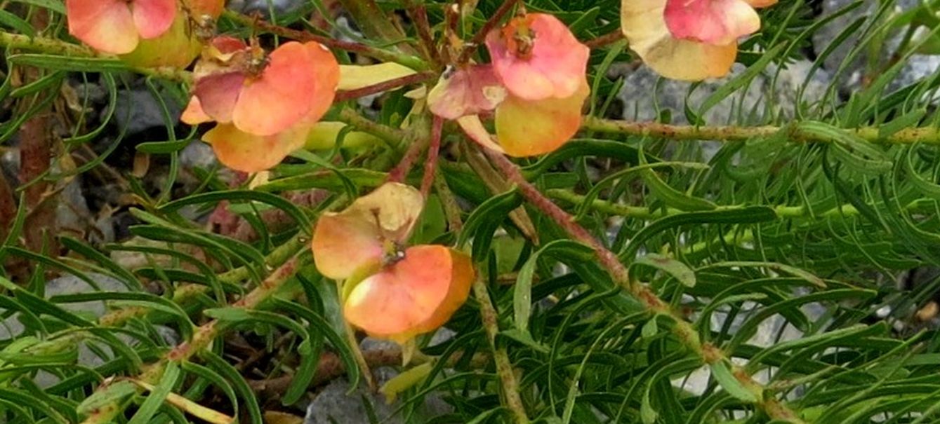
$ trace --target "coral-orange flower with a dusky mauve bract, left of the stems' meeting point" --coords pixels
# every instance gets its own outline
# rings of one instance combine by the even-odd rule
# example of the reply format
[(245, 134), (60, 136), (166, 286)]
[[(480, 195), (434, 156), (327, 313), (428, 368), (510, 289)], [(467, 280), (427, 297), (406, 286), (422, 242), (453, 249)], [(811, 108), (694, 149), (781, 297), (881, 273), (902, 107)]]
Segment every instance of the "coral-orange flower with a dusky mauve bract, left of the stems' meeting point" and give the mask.
[(258, 172), (304, 146), (330, 108), (339, 65), (317, 42), (282, 44), (270, 54), (236, 38), (214, 38), (196, 64), (194, 96), (182, 121), (218, 125), (202, 139), (229, 168)]

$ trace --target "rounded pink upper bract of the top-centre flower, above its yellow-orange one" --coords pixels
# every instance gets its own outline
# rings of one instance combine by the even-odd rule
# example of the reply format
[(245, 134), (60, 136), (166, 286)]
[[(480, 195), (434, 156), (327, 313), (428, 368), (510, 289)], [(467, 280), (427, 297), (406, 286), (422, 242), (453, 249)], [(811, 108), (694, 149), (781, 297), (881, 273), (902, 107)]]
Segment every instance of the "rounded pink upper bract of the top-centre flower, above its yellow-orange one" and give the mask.
[(590, 50), (555, 16), (530, 13), (486, 38), (493, 69), (518, 98), (570, 98), (584, 79)]

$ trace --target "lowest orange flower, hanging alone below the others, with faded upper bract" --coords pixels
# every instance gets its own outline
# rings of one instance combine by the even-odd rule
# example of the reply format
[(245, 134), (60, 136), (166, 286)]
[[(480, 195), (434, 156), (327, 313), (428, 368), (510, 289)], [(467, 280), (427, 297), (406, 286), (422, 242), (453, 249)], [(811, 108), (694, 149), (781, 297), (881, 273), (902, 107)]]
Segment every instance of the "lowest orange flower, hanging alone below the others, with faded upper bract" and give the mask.
[(324, 276), (346, 280), (343, 315), (370, 336), (404, 343), (443, 326), (475, 278), (465, 254), (406, 248), (424, 207), (418, 190), (386, 183), (338, 213), (324, 213), (311, 249)]

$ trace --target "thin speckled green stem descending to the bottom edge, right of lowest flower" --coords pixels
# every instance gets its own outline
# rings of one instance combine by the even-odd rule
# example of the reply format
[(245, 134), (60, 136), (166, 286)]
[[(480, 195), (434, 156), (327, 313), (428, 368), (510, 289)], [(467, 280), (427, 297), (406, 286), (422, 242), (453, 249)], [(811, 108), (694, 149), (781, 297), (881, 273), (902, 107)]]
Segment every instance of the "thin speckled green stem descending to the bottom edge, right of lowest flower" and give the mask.
[(516, 373), (512, 370), (512, 363), (509, 362), (509, 354), (506, 347), (496, 346), (496, 335), (499, 334), (498, 314), (493, 308), (493, 300), (490, 299), (490, 293), (486, 288), (486, 282), (482, 276), (478, 276), (473, 283), (473, 293), (479, 303), (479, 315), (483, 321), (483, 328), (486, 330), (487, 340), (490, 341), (490, 349), (493, 350), (493, 362), (496, 364), (496, 374), (499, 375), (499, 382), (503, 386), (503, 398), (506, 406), (512, 412), (516, 424), (527, 424), (528, 416), (525, 415), (525, 405), (522, 397), (519, 396), (519, 382), (516, 380)]

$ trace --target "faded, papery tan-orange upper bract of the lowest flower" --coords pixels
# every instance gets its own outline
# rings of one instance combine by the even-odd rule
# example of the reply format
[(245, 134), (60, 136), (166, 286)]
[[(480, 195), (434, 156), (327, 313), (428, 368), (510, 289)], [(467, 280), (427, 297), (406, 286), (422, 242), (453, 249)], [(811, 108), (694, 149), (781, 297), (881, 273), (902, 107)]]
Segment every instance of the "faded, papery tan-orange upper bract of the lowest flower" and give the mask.
[(342, 212), (324, 213), (311, 242), (317, 269), (326, 277), (344, 280), (363, 267), (381, 265), (389, 250), (411, 235), (423, 207), (418, 190), (386, 183)]

